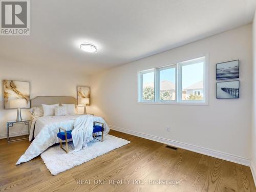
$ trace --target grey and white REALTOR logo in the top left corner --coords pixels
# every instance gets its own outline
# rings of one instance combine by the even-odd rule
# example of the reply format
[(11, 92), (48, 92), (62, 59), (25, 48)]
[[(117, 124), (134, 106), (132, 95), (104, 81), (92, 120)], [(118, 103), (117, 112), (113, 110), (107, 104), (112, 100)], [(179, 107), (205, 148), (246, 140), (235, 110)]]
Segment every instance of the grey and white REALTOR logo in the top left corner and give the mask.
[(29, 0), (1, 0), (0, 35), (29, 35)]

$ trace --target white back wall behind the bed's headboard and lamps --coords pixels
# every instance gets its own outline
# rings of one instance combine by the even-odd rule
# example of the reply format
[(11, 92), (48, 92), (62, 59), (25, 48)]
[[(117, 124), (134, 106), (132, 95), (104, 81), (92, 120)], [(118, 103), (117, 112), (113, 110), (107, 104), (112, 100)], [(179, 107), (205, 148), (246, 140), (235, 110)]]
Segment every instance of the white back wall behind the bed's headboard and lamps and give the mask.
[[(79, 70), (62, 71), (54, 67), (27, 66), (23, 63), (0, 58), (0, 79), (24, 80), (31, 82), (31, 98), (36, 96), (73, 96), (76, 86), (89, 86), (89, 78)], [(3, 90), (3, 81), (0, 83)], [(17, 110), (4, 110), (3, 91), (0, 92), (0, 138), (6, 137), (6, 121), (16, 119)], [(30, 118), (29, 110), (22, 109), (23, 119)], [(16, 126), (12, 132), (25, 131), (24, 125)]]

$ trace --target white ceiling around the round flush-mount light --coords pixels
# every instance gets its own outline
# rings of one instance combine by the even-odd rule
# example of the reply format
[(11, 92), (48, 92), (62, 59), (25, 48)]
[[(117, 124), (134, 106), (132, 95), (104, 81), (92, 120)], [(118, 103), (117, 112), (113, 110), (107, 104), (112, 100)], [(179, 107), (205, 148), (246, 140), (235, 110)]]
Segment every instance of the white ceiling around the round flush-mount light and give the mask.
[(0, 36), (0, 57), (92, 74), (251, 23), (255, 2), (30, 0), (30, 36)]

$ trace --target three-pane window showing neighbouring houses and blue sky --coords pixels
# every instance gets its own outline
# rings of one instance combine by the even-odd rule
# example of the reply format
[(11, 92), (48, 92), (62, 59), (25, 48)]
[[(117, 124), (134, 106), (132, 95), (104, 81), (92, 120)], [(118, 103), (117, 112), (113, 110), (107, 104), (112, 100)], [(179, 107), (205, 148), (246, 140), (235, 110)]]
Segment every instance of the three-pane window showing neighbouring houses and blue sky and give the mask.
[(206, 57), (139, 72), (139, 102), (206, 103)]

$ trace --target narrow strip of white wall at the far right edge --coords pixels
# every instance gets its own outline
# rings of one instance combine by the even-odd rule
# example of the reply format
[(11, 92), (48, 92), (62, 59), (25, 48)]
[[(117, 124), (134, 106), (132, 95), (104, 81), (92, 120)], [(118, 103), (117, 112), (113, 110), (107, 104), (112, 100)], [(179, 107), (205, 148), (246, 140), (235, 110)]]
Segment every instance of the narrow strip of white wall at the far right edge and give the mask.
[(253, 94), (252, 94), (252, 130), (251, 130), (251, 169), (256, 185), (256, 12), (252, 24), (253, 56)]

